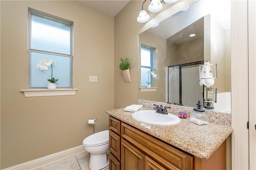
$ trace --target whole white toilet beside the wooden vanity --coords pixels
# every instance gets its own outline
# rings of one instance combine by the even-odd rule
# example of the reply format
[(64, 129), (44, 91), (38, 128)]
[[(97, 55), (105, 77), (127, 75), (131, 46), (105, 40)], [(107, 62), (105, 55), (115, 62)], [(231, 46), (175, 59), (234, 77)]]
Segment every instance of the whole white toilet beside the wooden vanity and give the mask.
[(84, 148), (91, 154), (90, 170), (100, 170), (108, 166), (108, 137), (108, 130), (106, 130), (94, 133), (84, 139)]

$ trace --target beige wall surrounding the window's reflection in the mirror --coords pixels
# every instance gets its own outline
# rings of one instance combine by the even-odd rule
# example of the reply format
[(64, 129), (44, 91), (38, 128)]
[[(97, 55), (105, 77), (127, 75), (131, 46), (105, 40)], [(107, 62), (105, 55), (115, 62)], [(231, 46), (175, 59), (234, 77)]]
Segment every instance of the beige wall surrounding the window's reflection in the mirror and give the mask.
[[(166, 57), (166, 39), (152, 34), (149, 31), (144, 31), (139, 35), (139, 58), (138, 65), (140, 66), (140, 50), (141, 44), (154, 47), (155, 56), (153, 57), (153, 70), (157, 77), (153, 78), (153, 86), (158, 87), (154, 92), (138, 92), (138, 98), (142, 100), (150, 100), (155, 102), (165, 102), (165, 67), (168, 65), (170, 59)], [(138, 86), (140, 87), (140, 67), (138, 69)]]

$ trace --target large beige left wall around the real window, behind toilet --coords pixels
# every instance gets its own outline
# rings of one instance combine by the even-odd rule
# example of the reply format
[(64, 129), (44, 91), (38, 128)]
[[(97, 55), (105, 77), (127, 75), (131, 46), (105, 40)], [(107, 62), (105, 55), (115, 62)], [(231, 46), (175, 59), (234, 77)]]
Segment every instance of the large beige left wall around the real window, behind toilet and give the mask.
[[(25, 98), (28, 7), (74, 21), (75, 96)], [(75, 1), (1, 1), (1, 168), (82, 145), (114, 108), (114, 18)], [(138, 50), (138, 49), (137, 49)], [(98, 82), (88, 82), (88, 76)], [(4, 80), (4, 81), (3, 81)]]

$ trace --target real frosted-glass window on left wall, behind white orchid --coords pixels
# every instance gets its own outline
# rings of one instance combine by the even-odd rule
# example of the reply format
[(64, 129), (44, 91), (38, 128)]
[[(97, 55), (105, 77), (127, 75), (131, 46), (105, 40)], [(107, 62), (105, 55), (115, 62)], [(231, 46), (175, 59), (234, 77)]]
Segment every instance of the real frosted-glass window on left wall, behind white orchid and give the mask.
[[(46, 88), (51, 74), (57, 88), (72, 88), (72, 29), (72, 21), (29, 9), (29, 88)], [(43, 58), (57, 63), (53, 72), (37, 67)]]

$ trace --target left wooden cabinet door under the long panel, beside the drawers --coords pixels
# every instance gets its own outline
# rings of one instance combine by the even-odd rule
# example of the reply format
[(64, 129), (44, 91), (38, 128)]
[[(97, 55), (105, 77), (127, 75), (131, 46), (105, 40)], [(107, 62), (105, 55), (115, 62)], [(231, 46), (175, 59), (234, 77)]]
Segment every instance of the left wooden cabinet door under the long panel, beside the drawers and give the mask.
[(145, 156), (125, 140), (121, 140), (122, 170), (144, 170)]

